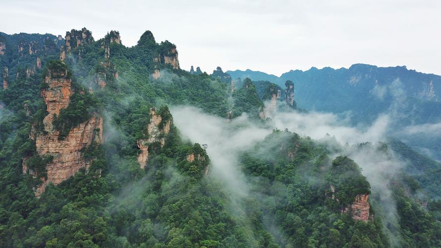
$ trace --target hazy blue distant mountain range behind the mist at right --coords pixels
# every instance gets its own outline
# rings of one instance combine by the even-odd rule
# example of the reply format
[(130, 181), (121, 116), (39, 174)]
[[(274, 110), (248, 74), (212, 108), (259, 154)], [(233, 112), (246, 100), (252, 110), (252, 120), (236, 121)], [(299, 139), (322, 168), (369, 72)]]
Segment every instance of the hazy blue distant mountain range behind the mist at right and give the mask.
[[(441, 76), (408, 70), (405, 66), (377, 67), (354, 64), (349, 68), (315, 67), (291, 70), (280, 77), (260, 71), (227, 71), (232, 78), (270, 80), (283, 87), (286, 80), (294, 82), (295, 99), (299, 108), (335, 114), (349, 114), (352, 124), (371, 124), (378, 116), (387, 115), (390, 135), (408, 140), (420, 151), (430, 150), (441, 159), (441, 135), (418, 133), (415, 136), (403, 129), (407, 126), (439, 124), (441, 122)], [(435, 134), (435, 136), (434, 136)]]

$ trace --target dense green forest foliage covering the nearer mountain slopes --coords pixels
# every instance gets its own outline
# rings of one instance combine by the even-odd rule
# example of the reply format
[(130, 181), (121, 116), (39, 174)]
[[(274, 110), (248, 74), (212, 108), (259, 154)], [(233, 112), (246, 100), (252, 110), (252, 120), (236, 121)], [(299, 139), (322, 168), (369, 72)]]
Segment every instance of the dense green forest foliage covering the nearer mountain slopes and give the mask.
[[(151, 107), (161, 116), (160, 128), (173, 120), (167, 106), (180, 104), (221, 117), (232, 111), (232, 118), (248, 113), (257, 119), (262, 99), (283, 92), (271, 82), (245, 78), (231, 92), (231, 77), (220, 68), (211, 76), (174, 69), (155, 58), (173, 54), (176, 46), (156, 43), (149, 31), (131, 48), (109, 43), (109, 36), (96, 42), (89, 37), (64, 62), (55, 60), (64, 44), (55, 36), (1, 33), (2, 40), (7, 50), (0, 56), (1, 65), (13, 76), (0, 91), (0, 247), (440, 246), (441, 203), (431, 200), (424, 207), (416, 197), (426, 192), (423, 184), (431, 185), (428, 192), (439, 197), (435, 177), (440, 166), (398, 142), (390, 145), (393, 150), (403, 151), (413, 167), (426, 174), (416, 177), (409, 170), (394, 178), (397, 223), (387, 222), (376, 197), (367, 222), (342, 211), (356, 195), (371, 193), (360, 167), (348, 156), (334, 156), (342, 153), (341, 147), (330, 149), (288, 130), (274, 130), (241, 153), (239, 172), (248, 190), (244, 195), (205, 175), (210, 158), (204, 146), (183, 139), (173, 124), (164, 146), (150, 144), (148, 164), (139, 166), (136, 140), (148, 136)], [(32, 41), (41, 49), (36, 54), (11, 49)], [(103, 42), (110, 49), (108, 59)], [(37, 57), (43, 67), (26, 76), (25, 69), (34, 68)], [(47, 111), (40, 90), (48, 87), (48, 70), (65, 71), (72, 79), (70, 103), (54, 120), (60, 138), (100, 115), (105, 142), (83, 148), (90, 162), (87, 170), (57, 186), (50, 184), (36, 198), (40, 179), (23, 173), (23, 160), (44, 178), (53, 159), (36, 152), (30, 135), (43, 130)], [(97, 79), (107, 85), (100, 87)], [(388, 148), (381, 149), (378, 152)], [(401, 239), (390, 242), (387, 232)]]

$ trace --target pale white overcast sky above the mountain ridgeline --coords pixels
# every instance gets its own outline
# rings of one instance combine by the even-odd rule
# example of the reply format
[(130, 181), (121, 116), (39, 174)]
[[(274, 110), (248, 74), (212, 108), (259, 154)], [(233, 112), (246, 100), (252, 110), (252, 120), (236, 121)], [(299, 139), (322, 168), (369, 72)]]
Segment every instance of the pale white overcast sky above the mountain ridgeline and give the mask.
[(440, 0), (0, 0), (0, 31), (95, 40), (118, 30), (133, 46), (145, 30), (178, 47), (183, 69), (216, 66), (275, 75), (291, 69), (406, 65), (441, 74)]

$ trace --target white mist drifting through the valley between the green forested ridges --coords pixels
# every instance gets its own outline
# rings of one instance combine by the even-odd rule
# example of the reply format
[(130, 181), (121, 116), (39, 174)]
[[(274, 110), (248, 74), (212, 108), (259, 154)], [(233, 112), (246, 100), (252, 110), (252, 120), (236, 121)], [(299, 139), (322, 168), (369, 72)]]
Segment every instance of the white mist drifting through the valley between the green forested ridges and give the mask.
[[(227, 120), (203, 113), (200, 109), (188, 106), (170, 108), (174, 124), (183, 137), (191, 142), (208, 144), (207, 154), (211, 159), (212, 169), (209, 177), (219, 178), (230, 188), (232, 194), (248, 196), (249, 186), (245, 175), (239, 168), (239, 155), (259, 141), (273, 129), (296, 132), (309, 136), (317, 142), (330, 142), (327, 134), (334, 136), (332, 142), (338, 152), (329, 155), (334, 159), (347, 155), (362, 169), (362, 174), (371, 184), (371, 201), (383, 219), (384, 230), (391, 244), (398, 244), (399, 234), (388, 231), (388, 226), (396, 226), (398, 214), (396, 204), (389, 189), (390, 179), (405, 166), (392, 151), (381, 151), (381, 141), (388, 132), (390, 117), (380, 115), (368, 126), (351, 126), (348, 118), (342, 119), (330, 113), (276, 112), (271, 119), (261, 124), (254, 122), (246, 114)], [(335, 144), (335, 141), (337, 144)], [(371, 142), (360, 146), (360, 143)], [(330, 144), (331, 145), (331, 144)], [(261, 153), (261, 156), (265, 156)], [(263, 157), (262, 157), (263, 158)]]

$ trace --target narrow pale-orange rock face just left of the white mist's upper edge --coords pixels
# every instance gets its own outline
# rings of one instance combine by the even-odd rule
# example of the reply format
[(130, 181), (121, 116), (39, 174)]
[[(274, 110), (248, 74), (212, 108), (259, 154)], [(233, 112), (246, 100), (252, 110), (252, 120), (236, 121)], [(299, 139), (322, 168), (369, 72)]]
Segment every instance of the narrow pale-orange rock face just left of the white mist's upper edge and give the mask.
[[(170, 114), (170, 113), (167, 113)], [(161, 148), (165, 144), (165, 136), (170, 132), (172, 120), (163, 121), (161, 115), (156, 113), (155, 108), (150, 108), (150, 122), (147, 124), (147, 138), (138, 139), (137, 145), (140, 150), (138, 163), (141, 168), (147, 164), (149, 145), (158, 142)]]

